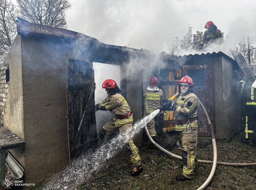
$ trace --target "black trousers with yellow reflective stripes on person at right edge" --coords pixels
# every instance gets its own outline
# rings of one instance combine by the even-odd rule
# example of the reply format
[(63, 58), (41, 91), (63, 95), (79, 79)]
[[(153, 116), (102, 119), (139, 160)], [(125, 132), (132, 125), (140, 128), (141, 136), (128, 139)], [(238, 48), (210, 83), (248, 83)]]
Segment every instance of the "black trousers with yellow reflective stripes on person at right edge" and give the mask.
[(245, 139), (254, 140), (253, 134), (256, 130), (256, 107), (245, 108)]

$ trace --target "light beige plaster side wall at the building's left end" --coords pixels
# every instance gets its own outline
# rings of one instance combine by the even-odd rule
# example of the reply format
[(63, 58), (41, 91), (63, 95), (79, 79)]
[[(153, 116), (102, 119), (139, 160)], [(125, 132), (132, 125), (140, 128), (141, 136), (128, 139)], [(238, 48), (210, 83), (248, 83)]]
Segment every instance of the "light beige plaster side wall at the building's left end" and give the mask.
[(5, 103), (3, 124), (6, 129), (24, 139), (21, 36), (17, 36), (4, 65), (10, 70), (10, 83)]

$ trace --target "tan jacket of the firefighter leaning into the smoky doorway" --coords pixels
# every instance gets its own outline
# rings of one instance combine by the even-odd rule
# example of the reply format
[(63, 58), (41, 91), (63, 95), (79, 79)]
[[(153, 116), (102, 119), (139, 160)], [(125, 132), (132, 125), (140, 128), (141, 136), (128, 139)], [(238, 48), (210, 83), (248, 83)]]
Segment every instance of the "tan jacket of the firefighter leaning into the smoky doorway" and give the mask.
[[(116, 93), (114, 95), (107, 95), (107, 97), (98, 104), (99, 110), (110, 110), (111, 113), (116, 115), (126, 115), (131, 111), (126, 99), (120, 94)], [(133, 117), (130, 116), (124, 119), (118, 119), (114, 117), (112, 121), (115, 123), (116, 127), (133, 122)]]

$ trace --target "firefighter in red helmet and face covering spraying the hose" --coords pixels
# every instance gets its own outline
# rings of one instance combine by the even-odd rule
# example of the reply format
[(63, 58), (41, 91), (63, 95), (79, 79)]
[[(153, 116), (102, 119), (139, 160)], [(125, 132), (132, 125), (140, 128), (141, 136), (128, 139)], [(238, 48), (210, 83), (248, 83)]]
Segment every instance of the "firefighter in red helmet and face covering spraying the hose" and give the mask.
[(194, 178), (194, 171), (197, 168), (197, 109), (199, 100), (193, 93), (193, 80), (184, 76), (179, 81), (179, 93), (173, 103), (167, 99), (160, 110), (174, 111), (176, 118), (175, 130), (180, 131), (183, 161), (183, 172), (176, 176), (176, 180), (185, 181)]

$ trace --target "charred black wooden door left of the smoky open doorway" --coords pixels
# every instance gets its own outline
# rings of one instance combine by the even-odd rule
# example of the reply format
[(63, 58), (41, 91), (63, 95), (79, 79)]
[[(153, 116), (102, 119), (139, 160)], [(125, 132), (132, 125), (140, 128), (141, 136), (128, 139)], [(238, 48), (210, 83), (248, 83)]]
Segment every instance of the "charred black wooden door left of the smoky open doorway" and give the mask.
[(94, 70), (89, 63), (69, 59), (67, 122), (70, 158), (97, 139), (94, 90)]

